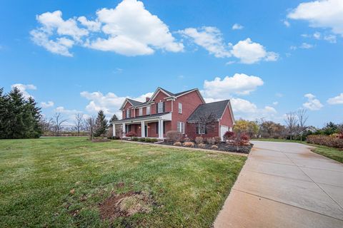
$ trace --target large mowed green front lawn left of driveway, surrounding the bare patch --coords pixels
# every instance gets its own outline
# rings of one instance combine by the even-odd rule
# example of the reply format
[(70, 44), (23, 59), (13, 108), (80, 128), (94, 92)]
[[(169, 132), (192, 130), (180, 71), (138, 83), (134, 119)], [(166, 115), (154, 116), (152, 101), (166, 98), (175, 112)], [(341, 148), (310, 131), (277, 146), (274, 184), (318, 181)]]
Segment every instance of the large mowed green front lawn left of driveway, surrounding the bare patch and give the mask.
[[(0, 140), (0, 227), (211, 227), (245, 160), (86, 138)], [(99, 203), (129, 191), (148, 192), (152, 211), (101, 219)]]

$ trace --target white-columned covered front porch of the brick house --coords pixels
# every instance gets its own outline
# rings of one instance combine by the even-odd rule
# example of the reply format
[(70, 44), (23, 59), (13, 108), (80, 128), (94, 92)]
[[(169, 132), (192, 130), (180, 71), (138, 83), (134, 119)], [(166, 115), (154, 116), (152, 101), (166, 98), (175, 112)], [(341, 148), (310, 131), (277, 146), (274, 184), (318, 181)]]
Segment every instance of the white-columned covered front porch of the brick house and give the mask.
[(134, 132), (140, 138), (164, 139), (165, 134), (172, 128), (172, 113), (145, 115), (138, 118), (127, 118), (113, 123), (113, 136), (116, 136), (116, 125), (122, 125), (123, 137), (126, 133)]

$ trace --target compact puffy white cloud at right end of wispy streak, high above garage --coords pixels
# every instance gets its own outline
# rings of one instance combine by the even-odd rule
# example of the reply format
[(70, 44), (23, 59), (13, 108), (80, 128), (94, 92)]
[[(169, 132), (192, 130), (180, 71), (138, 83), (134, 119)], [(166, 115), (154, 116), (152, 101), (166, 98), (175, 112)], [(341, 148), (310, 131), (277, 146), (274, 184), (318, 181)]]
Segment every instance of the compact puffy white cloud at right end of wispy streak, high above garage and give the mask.
[(242, 63), (252, 64), (259, 61), (277, 61), (279, 55), (272, 51), (267, 52), (264, 46), (254, 43), (250, 38), (239, 41), (232, 47), (232, 55), (239, 58)]

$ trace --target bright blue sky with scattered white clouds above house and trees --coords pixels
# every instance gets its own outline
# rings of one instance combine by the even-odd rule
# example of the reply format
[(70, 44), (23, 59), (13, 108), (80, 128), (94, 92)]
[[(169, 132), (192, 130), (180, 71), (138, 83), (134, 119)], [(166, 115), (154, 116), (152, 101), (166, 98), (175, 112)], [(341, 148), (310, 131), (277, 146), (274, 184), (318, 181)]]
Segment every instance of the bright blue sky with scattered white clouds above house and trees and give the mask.
[(0, 86), (47, 117), (110, 116), (160, 86), (230, 98), (235, 118), (343, 122), (340, 0), (4, 0), (0, 15)]

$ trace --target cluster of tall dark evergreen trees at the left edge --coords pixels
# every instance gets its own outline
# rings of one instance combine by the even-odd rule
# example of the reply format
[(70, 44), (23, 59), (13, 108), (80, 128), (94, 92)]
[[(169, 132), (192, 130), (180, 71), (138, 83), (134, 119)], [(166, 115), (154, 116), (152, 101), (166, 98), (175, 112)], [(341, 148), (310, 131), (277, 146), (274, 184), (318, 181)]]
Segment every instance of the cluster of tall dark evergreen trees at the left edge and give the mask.
[(41, 108), (34, 98), (24, 98), (18, 88), (4, 94), (0, 88), (0, 138), (39, 138)]

